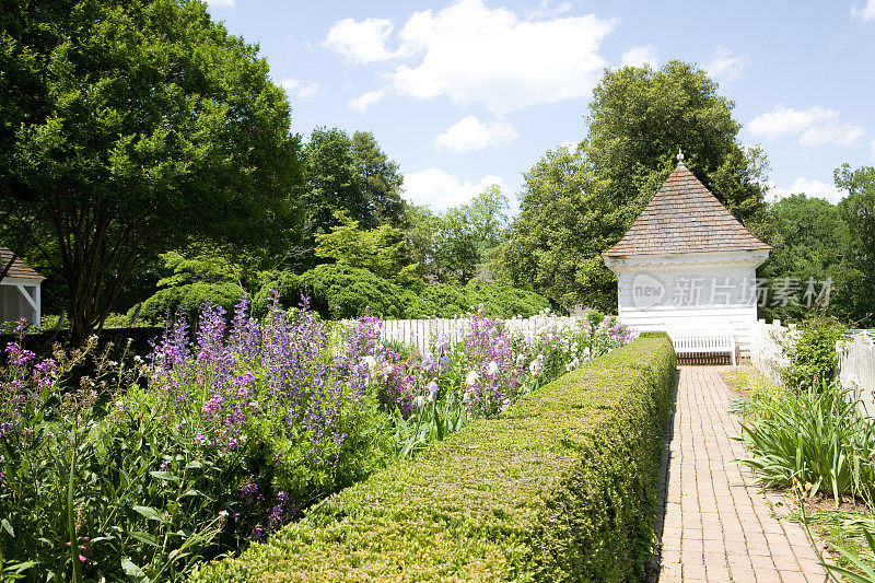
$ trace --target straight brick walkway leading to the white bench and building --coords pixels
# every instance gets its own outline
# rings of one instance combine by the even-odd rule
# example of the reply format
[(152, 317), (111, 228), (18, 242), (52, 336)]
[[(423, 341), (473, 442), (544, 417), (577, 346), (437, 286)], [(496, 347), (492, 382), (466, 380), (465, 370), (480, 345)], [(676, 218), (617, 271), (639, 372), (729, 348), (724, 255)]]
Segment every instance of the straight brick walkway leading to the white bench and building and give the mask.
[[(772, 516), (750, 471), (719, 366), (681, 366), (668, 455), (660, 582), (822, 582), (803, 527)], [(780, 511), (779, 511), (780, 513)]]

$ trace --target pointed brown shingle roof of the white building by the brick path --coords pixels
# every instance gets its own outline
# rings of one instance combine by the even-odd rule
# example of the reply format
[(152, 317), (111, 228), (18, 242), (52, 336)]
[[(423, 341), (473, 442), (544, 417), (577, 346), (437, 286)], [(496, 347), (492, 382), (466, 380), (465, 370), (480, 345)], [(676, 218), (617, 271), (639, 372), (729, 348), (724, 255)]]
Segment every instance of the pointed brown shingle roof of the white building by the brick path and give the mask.
[(679, 163), (644, 211), (604, 257), (768, 250)]

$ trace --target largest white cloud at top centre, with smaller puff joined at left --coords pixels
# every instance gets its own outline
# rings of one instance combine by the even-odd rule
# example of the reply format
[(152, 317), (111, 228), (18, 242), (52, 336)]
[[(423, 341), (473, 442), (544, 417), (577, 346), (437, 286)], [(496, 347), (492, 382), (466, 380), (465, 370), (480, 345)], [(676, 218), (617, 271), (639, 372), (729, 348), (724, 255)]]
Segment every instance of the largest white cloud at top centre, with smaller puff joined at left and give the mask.
[[(340, 21), (325, 45), (360, 62), (399, 59), (383, 73), (389, 92), (446, 96), (500, 114), (588, 96), (605, 67), (599, 43), (614, 23), (593, 14), (521, 19), (482, 0), (460, 0), (415, 12), (397, 33), (394, 53), (386, 48), (388, 21)], [(357, 34), (341, 37), (338, 30)]]

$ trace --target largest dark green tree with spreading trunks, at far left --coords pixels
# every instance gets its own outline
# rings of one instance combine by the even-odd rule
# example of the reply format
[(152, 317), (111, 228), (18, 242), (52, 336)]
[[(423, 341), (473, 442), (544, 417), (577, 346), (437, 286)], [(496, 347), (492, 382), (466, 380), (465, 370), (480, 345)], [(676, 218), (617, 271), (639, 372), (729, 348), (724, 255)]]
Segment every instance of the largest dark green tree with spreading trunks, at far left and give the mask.
[(10, 0), (2, 12), (0, 188), (67, 282), (74, 342), (143, 257), (294, 232), (288, 101), (205, 3)]

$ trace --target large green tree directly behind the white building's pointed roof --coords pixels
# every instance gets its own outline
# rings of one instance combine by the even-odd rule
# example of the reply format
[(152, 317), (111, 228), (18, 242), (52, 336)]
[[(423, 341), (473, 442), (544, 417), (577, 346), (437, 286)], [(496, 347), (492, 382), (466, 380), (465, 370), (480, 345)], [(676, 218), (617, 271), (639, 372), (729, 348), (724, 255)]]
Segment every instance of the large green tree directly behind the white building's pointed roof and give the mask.
[(552, 300), (616, 310), (616, 279), (599, 254), (643, 210), (675, 164), (678, 149), (696, 176), (739, 220), (757, 228), (766, 160), (745, 149), (734, 104), (701, 69), (606, 70), (574, 152), (548, 152), (525, 175), (506, 264), (517, 284)]

